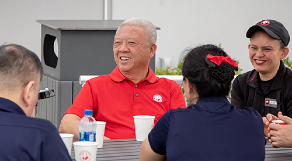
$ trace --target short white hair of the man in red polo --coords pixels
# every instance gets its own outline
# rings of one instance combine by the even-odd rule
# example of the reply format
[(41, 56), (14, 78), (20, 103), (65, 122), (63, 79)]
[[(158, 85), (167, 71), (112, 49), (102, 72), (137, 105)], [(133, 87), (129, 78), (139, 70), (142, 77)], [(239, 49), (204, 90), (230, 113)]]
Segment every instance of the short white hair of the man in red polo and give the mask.
[(121, 25), (118, 27), (117, 31), (120, 29), (121, 26), (142, 27), (145, 30), (146, 35), (148, 36), (149, 44), (156, 43), (156, 39), (157, 39), (156, 28), (150, 21), (148, 21), (146, 19), (140, 19), (140, 18), (127, 19), (121, 23)]

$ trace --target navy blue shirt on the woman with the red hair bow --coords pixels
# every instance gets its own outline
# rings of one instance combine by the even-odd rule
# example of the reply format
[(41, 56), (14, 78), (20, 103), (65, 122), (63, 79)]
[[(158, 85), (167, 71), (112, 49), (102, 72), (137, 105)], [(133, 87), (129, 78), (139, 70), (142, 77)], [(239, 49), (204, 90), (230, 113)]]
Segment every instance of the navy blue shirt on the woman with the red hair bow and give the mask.
[(168, 161), (260, 161), (265, 159), (261, 115), (225, 97), (200, 98), (188, 108), (170, 110), (148, 136), (154, 152)]

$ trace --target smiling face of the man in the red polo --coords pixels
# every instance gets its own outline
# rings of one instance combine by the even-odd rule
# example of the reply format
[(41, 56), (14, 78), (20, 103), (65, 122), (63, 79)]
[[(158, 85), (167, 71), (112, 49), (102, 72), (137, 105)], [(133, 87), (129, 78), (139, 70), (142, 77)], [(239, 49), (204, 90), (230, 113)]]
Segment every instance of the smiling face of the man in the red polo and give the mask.
[(114, 59), (123, 73), (148, 70), (153, 57), (151, 44), (144, 29), (138, 26), (121, 26), (114, 39)]

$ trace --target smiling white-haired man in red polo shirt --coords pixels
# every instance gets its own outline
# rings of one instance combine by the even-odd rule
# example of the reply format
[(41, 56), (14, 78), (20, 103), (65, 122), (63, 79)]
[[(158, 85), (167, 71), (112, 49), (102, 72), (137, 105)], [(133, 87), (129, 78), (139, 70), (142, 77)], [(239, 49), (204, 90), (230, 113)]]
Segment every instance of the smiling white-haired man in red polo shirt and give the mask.
[(63, 116), (59, 132), (74, 134), (78, 140), (79, 121), (84, 110), (91, 109), (97, 121), (106, 122), (105, 137), (135, 138), (134, 115), (153, 115), (155, 124), (169, 109), (186, 108), (181, 87), (156, 77), (149, 67), (157, 49), (156, 37), (150, 21), (124, 21), (114, 38), (117, 67), (86, 82)]

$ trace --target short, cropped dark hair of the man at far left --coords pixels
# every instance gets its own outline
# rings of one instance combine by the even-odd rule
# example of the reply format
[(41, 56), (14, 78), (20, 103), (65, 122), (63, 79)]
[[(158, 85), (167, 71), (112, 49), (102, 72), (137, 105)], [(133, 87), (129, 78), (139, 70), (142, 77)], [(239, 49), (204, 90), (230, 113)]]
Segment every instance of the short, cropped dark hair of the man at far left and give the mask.
[(0, 46), (0, 82), (3, 85), (23, 86), (37, 74), (42, 77), (43, 67), (34, 52), (17, 44)]

